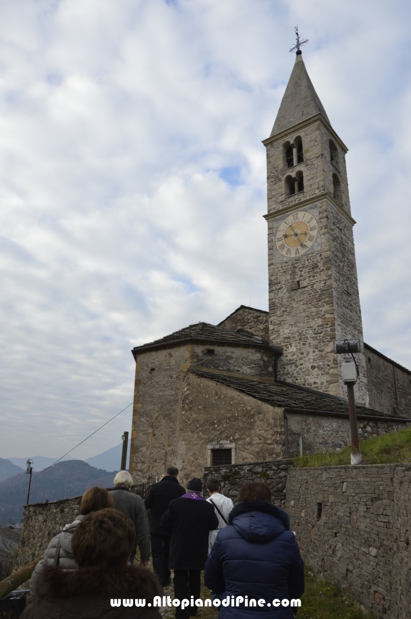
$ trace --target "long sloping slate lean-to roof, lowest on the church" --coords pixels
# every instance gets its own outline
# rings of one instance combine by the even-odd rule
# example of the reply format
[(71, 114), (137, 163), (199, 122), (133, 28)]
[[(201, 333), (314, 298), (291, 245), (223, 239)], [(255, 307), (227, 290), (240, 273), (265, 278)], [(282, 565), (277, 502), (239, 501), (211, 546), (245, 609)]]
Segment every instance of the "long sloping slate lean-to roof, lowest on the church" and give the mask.
[[(201, 366), (192, 365), (190, 372), (208, 378), (227, 387), (237, 389), (257, 400), (267, 402), (290, 413), (305, 413), (307, 415), (324, 415), (332, 417), (349, 417), (348, 403), (336, 396), (329, 396), (313, 389), (307, 389), (289, 383), (276, 382), (273, 378), (260, 378), (255, 376), (236, 375), (231, 372), (208, 370)], [(357, 405), (357, 417), (370, 420), (387, 420), (401, 422), (411, 421), (403, 417), (384, 415), (378, 410), (368, 409)]]

